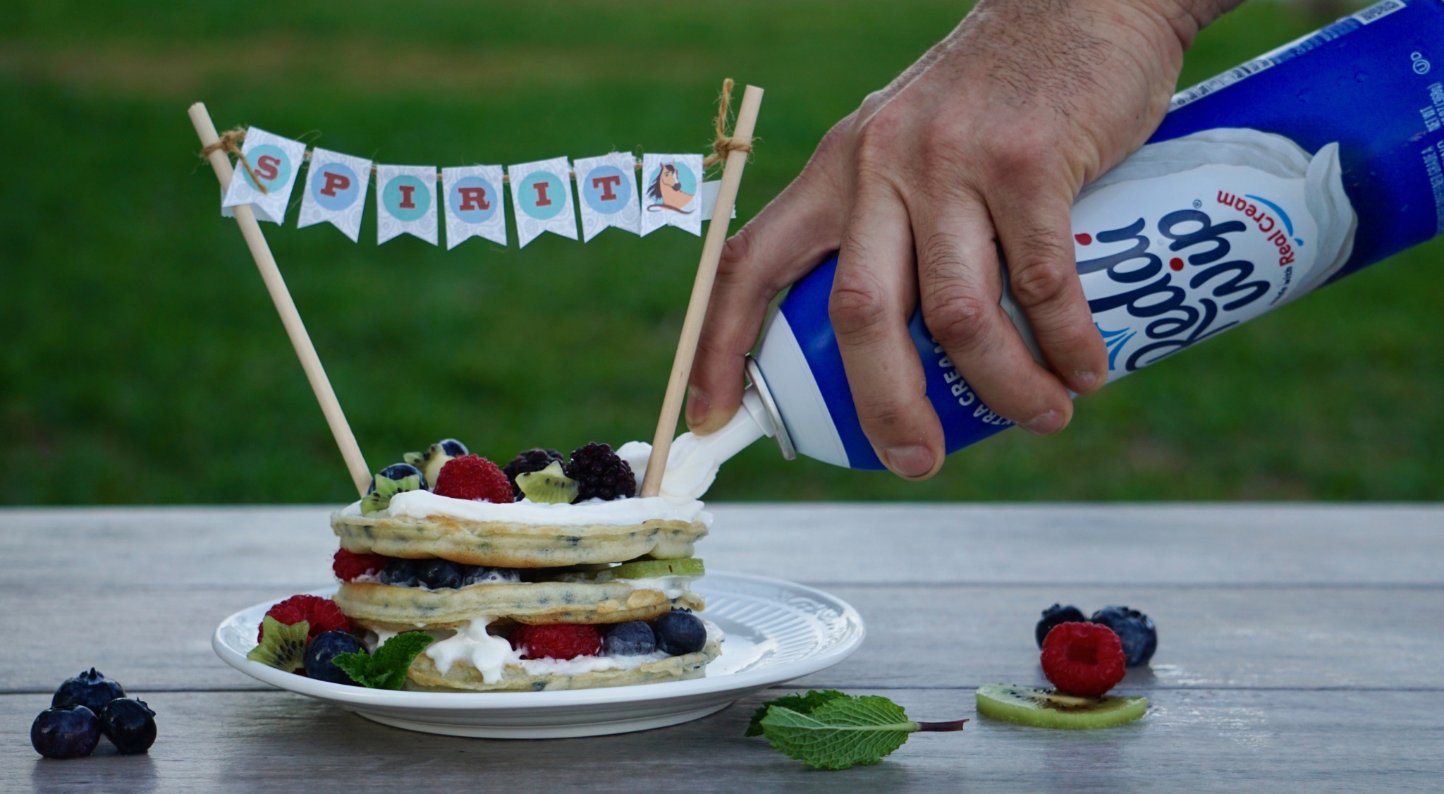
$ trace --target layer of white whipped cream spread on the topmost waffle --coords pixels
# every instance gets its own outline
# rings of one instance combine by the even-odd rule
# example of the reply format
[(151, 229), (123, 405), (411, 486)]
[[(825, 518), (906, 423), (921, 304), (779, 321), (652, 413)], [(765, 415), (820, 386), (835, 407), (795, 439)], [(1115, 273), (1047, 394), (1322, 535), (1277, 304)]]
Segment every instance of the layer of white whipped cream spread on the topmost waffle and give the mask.
[[(588, 499), (580, 504), (542, 504), (531, 499), (495, 504), (440, 497), (430, 491), (406, 491), (391, 497), (391, 504), (370, 515), (391, 518), (427, 518), (446, 515), (466, 521), (513, 521), (517, 524), (641, 524), (650, 520), (700, 521), (712, 525), (712, 514), (703, 510), (699, 499), (673, 497), (647, 497), (612, 499)], [(361, 515), (361, 502), (347, 505), (342, 515)]]

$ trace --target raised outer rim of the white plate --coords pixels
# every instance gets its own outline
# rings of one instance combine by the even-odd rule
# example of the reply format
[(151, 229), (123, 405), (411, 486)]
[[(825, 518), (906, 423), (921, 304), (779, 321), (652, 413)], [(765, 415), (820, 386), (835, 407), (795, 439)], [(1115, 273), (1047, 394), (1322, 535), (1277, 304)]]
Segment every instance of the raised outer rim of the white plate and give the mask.
[[(829, 603), (839, 608), (838, 612), (840, 618), (848, 624), (856, 627), (856, 631), (851, 634), (839, 645), (822, 651), (814, 655), (804, 658), (786, 661), (773, 667), (764, 667), (761, 670), (728, 673), (718, 677), (702, 677), (690, 679), (684, 681), (663, 681), (654, 684), (631, 684), (622, 687), (595, 687), (595, 689), (569, 689), (569, 690), (550, 690), (550, 692), (407, 692), (407, 690), (388, 690), (388, 689), (368, 689), (357, 687), (348, 684), (334, 684), (329, 681), (318, 681), (315, 679), (308, 679), (305, 676), (296, 676), (293, 673), (284, 673), (274, 667), (261, 664), (258, 661), (251, 661), (245, 658), (245, 654), (238, 653), (235, 648), (225, 644), (221, 638), (221, 629), (237, 621), (243, 612), (256, 609), (257, 606), (266, 603), (276, 603), (282, 599), (253, 603), (243, 609), (227, 615), (217, 624), (215, 631), (211, 632), (211, 650), (215, 651), (221, 661), (230, 664), (235, 670), (256, 679), (261, 683), (271, 684), (277, 689), (295, 692), (297, 694), (305, 694), (309, 697), (316, 697), (321, 700), (332, 702), (344, 707), (406, 707), (406, 709), (425, 709), (438, 712), (466, 712), (466, 710), (485, 710), (485, 712), (501, 712), (514, 709), (569, 709), (578, 706), (605, 706), (612, 703), (634, 703), (645, 700), (671, 700), (684, 697), (702, 697), (709, 694), (721, 694), (726, 692), (744, 692), (744, 690), (761, 690), (770, 686), (800, 679), (803, 676), (810, 676), (813, 673), (826, 670), (835, 664), (842, 663), (858, 648), (862, 647), (862, 641), (866, 637), (866, 624), (862, 621), (862, 615), (846, 601), (817, 588), (809, 585), (801, 585), (799, 582), (791, 582), (788, 579), (777, 579), (773, 576), (760, 576), (755, 573), (735, 573), (735, 572), (708, 572), (708, 579), (732, 579), (749, 582), (762, 586), (783, 586), (786, 589), (800, 590), (819, 602)], [(332, 585), (328, 588), (318, 588), (313, 590), (306, 590), (309, 595), (331, 596), (336, 592), (339, 585)]]

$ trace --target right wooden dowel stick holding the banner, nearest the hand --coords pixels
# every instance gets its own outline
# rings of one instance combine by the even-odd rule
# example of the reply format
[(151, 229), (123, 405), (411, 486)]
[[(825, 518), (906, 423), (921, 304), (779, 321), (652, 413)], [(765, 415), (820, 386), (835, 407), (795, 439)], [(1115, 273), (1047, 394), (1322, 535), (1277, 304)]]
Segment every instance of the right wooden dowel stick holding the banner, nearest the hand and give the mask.
[[(762, 90), (748, 85), (742, 91), (742, 104), (736, 111), (736, 126), (732, 140), (751, 143), (757, 127), (757, 111), (762, 105)], [(661, 476), (667, 472), (667, 453), (671, 452), (671, 436), (677, 432), (677, 416), (682, 414), (682, 397), (687, 391), (692, 375), (692, 359), (697, 354), (697, 338), (702, 336), (702, 320), (708, 316), (708, 302), (712, 299), (712, 283), (716, 280), (718, 263), (722, 260), (722, 244), (726, 243), (728, 224), (732, 219), (732, 205), (736, 204), (736, 188), (747, 167), (747, 152), (732, 150), (722, 166), (722, 185), (718, 188), (718, 204), (712, 209), (712, 225), (702, 244), (702, 261), (697, 277), (692, 283), (692, 299), (687, 302), (687, 316), (682, 320), (682, 338), (677, 339), (677, 355), (671, 359), (671, 377), (667, 380), (667, 394), (661, 400), (661, 416), (657, 417), (657, 432), (651, 437), (651, 458), (647, 459), (647, 476), (641, 482), (643, 497), (661, 492)]]

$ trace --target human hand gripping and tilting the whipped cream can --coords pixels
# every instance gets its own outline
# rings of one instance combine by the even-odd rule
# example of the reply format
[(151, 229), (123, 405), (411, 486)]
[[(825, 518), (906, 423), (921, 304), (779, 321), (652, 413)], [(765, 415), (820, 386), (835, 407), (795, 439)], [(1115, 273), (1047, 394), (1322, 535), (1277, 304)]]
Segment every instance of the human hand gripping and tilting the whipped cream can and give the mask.
[[(907, 323), (928, 331), (998, 414), (1056, 433), (1069, 390), (1108, 377), (1074, 269), (1079, 189), (1162, 120), (1193, 36), (1240, 0), (982, 0), (839, 121), (728, 240), (692, 370), (687, 424), (721, 427), (768, 302), (838, 250), (829, 313), (862, 429), (895, 474), (943, 463)], [(999, 306), (1014, 297), (1047, 368)]]

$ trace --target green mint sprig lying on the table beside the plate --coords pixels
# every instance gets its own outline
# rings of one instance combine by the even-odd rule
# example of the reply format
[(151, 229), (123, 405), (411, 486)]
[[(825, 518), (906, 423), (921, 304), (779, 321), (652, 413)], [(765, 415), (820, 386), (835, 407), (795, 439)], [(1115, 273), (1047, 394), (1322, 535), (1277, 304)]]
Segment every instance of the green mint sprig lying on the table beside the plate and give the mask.
[(914, 722), (902, 706), (877, 694), (829, 690), (786, 694), (758, 706), (747, 736), (817, 769), (877, 764), (918, 730), (962, 730), (966, 719)]

